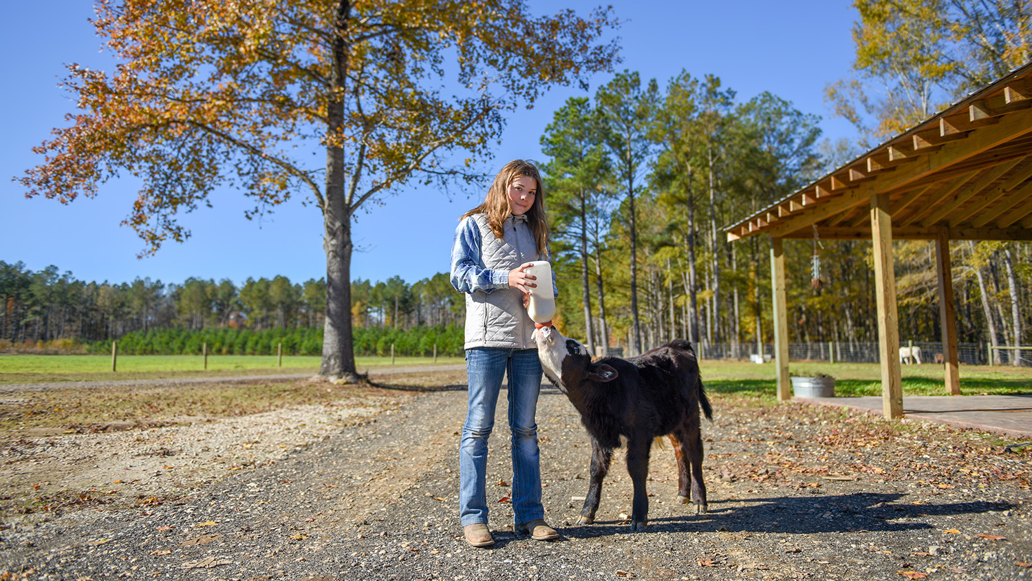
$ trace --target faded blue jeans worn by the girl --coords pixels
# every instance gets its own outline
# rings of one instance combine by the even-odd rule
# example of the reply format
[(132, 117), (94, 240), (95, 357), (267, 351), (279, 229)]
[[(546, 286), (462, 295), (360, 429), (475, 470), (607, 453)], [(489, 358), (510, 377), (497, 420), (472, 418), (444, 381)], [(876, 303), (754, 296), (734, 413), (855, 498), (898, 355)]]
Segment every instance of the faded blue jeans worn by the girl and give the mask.
[(541, 391), (537, 349), (477, 348), (465, 352), (470, 407), (458, 450), (458, 491), (462, 526), (487, 523), (487, 439), (494, 427), (494, 407), (502, 377), (509, 377), (509, 428), (512, 431), (512, 504), (516, 523), (545, 517), (541, 505), (541, 461), (534, 416)]

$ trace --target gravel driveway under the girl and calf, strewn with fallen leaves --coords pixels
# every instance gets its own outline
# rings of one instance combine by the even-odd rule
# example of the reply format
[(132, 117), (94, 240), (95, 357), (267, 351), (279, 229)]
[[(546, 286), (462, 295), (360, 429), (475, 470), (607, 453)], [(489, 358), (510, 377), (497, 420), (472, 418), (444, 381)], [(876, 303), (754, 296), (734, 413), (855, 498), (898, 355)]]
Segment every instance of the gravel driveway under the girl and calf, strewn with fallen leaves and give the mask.
[(8, 518), (0, 571), (11, 575), (0, 578), (1032, 578), (1032, 454), (1003, 453), (977, 432), (716, 395), (716, 421), (704, 424), (711, 512), (696, 516), (671, 502), (673, 456), (655, 448), (651, 525), (631, 534), (621, 522), (631, 501), (622, 457), (599, 522), (571, 524), (590, 446), (570, 404), (547, 388), (544, 501), (562, 537), (512, 534), (499, 405), (488, 487), (497, 543), (484, 550), (461, 541), (456, 517), (465, 392), (399, 395), (384, 408), (358, 425), (288, 433), (289, 448), (253, 466), (213, 464), (208, 480), (180, 496)]

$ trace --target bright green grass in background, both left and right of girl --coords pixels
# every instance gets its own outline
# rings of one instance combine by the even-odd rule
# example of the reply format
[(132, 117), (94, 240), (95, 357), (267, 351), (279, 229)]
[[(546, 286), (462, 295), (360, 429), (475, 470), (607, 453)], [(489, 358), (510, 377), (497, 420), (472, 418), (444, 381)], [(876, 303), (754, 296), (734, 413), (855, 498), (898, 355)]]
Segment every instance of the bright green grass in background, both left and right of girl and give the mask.
[[(359, 357), (359, 372), (389, 367), (389, 357)], [(438, 363), (461, 363), (460, 357), (439, 357)], [(396, 357), (394, 366), (432, 364), (427, 357)], [(124, 355), (118, 372), (111, 373), (106, 355), (0, 355), (0, 384), (52, 383), (63, 381), (109, 381), (172, 377), (231, 377), (272, 374), (315, 374), (319, 357), (285, 356), (277, 366), (275, 356), (208, 356), (207, 369), (198, 355)], [(700, 361), (708, 389), (720, 392), (755, 392), (774, 395), (774, 363)], [(824, 373), (836, 378), (835, 394), (860, 396), (881, 394), (881, 372), (876, 363), (792, 363), (792, 373), (808, 376)], [(941, 365), (904, 365), (905, 395), (944, 395)], [(961, 391), (966, 395), (1032, 393), (1032, 367), (962, 365)]]

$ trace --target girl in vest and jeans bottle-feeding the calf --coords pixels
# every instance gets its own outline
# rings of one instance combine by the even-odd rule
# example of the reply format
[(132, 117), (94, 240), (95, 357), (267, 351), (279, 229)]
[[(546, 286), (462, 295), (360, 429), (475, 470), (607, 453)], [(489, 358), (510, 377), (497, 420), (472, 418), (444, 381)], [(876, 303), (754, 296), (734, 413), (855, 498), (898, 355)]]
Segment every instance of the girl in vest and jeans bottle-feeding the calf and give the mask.
[[(548, 225), (541, 175), (515, 160), (494, 176), (484, 203), (465, 213), (455, 229), (451, 283), (465, 293), (465, 365), (470, 404), (459, 445), (459, 518), (474, 547), (494, 544), (487, 528), (487, 439), (503, 375), (509, 378), (512, 431), (512, 504), (517, 535), (548, 541), (558, 534), (545, 523), (535, 413), (541, 362), (526, 314), (535, 260), (547, 260)], [(553, 271), (554, 272), (554, 271)], [(554, 273), (553, 273), (554, 283)], [(552, 288), (556, 288), (552, 285)]]

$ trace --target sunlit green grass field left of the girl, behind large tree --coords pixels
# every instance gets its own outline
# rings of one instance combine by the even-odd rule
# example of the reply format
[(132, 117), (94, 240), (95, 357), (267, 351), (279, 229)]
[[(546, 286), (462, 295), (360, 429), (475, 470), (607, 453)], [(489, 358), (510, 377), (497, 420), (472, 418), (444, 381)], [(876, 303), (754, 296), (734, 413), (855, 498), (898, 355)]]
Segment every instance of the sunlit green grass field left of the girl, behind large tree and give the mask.
[[(317, 356), (208, 355), (207, 369), (200, 355), (119, 355), (111, 373), (109, 355), (0, 355), (0, 385), (65, 381), (109, 381), (173, 377), (231, 377), (271, 374), (315, 374)], [(438, 363), (459, 363), (460, 357), (438, 357)], [(359, 372), (391, 366), (390, 357), (357, 357)], [(432, 357), (395, 357), (394, 366), (432, 364)]]

